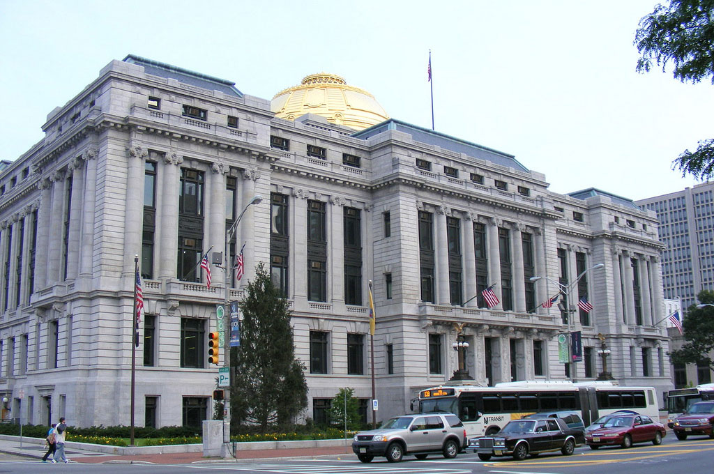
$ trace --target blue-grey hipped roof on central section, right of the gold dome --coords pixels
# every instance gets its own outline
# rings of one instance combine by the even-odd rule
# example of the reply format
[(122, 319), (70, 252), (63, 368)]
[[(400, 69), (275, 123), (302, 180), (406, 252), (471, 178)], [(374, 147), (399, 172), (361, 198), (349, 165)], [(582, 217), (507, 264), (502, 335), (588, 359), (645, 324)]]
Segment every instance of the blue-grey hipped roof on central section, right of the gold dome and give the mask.
[(383, 121), (382, 123), (377, 123), (370, 128), (365, 128), (362, 131), (353, 133), (352, 136), (366, 140), (367, 138), (387, 130), (396, 130), (408, 133), (412, 136), (414, 141), (426, 143), (427, 145), (437, 145), (446, 150), (455, 151), (456, 153), (464, 153), (467, 156), (491, 161), (491, 163), (496, 163), (508, 168), (514, 168), (518, 171), (528, 171), (526, 166), (523, 166), (513, 155), (509, 155), (508, 153), (503, 153), (502, 151), (494, 150), (493, 148), (478, 145), (478, 143), (461, 140), (461, 138), (455, 138), (453, 136), (446, 135), (446, 133), (440, 133), (428, 128), (422, 128), (420, 126), (412, 125), (411, 123), (406, 123), (396, 119), (389, 119), (387, 121)]

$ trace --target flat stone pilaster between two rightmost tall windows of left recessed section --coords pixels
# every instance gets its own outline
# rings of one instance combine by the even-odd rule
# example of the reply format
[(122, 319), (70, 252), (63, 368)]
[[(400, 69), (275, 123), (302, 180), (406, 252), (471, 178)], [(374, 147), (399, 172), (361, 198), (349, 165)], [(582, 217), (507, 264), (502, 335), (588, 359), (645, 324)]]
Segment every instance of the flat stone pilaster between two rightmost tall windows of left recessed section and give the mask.
[(345, 199), (332, 196), (332, 206), (328, 206), (330, 213), (328, 219), (327, 264), (328, 288), (327, 301), (343, 303), (345, 300), (345, 236), (343, 206)]

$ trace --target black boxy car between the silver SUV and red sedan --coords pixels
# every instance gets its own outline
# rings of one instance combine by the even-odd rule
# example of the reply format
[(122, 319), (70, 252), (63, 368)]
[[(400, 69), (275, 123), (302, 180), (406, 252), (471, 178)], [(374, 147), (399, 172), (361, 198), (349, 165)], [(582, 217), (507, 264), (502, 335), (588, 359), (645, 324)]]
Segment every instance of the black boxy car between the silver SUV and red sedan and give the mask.
[(513, 456), (522, 460), (527, 455), (558, 451), (571, 455), (576, 446), (585, 443), (583, 430), (568, 428), (562, 418), (545, 420), (512, 420), (503, 430), (485, 438), (471, 438), (468, 448), (484, 461), (492, 456)]

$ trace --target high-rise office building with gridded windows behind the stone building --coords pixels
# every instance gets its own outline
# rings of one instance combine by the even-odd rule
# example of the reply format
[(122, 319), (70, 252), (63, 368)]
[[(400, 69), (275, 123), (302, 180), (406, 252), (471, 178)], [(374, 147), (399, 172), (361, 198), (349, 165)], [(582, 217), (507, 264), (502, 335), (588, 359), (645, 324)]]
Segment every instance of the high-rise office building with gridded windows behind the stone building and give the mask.
[[(687, 308), (698, 303), (702, 290), (714, 290), (714, 183), (701, 183), (676, 193), (636, 201), (654, 211), (659, 221), (662, 279), (665, 298), (678, 299)], [(670, 330), (673, 348), (684, 343), (679, 331)], [(675, 388), (711, 383), (708, 364), (673, 364)]]

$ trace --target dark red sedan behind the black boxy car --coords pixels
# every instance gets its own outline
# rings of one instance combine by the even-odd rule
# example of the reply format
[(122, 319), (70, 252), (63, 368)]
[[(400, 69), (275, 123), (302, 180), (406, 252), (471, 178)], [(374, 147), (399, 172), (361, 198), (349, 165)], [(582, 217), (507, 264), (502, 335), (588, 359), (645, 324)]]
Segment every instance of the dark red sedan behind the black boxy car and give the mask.
[(607, 420), (602, 428), (587, 433), (585, 443), (591, 449), (615, 445), (629, 448), (633, 443), (648, 441), (658, 445), (662, 443), (662, 438), (666, 434), (665, 425), (653, 421), (646, 415), (620, 415)]

